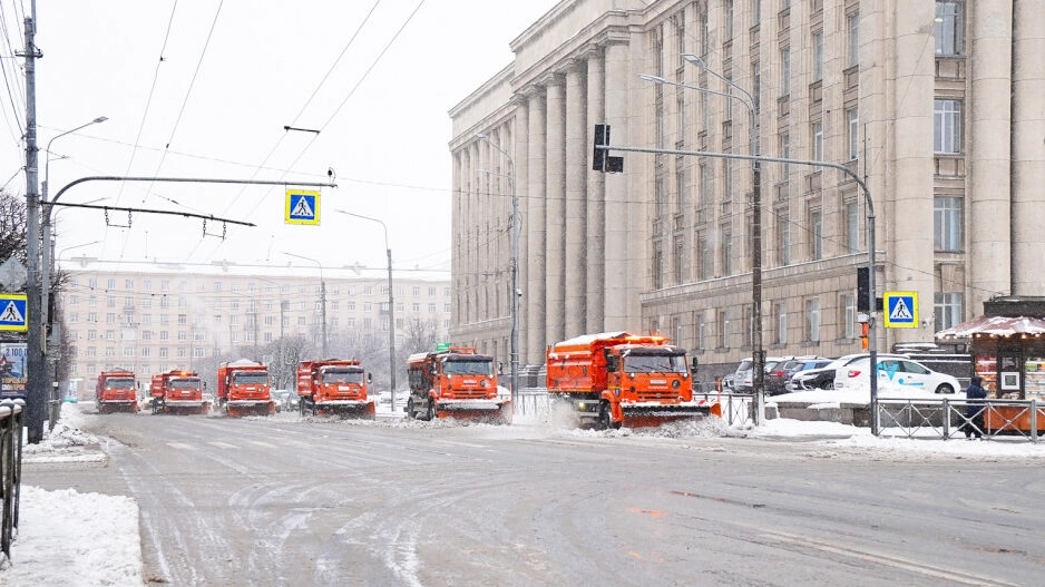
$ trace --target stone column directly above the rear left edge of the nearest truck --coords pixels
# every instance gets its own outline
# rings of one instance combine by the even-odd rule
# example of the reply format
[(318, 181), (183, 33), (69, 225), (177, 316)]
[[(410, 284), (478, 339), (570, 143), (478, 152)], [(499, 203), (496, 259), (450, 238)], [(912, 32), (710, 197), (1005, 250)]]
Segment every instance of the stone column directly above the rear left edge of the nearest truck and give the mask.
[(566, 96), (563, 77), (547, 78), (545, 177), (545, 336), (547, 344), (566, 332)]

